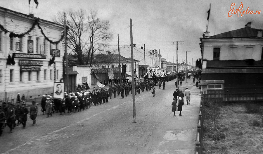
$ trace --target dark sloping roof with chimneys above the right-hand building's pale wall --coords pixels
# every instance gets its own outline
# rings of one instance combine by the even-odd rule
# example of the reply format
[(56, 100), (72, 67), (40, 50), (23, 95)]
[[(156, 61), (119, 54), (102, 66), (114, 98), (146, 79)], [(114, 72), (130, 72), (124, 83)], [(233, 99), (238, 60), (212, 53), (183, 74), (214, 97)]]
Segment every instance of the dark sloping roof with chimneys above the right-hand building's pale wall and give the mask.
[(244, 27), (237, 30), (231, 30), (229, 32), (223, 32), (221, 34), (217, 34), (214, 36), (210, 36), (210, 38), (244, 38), (244, 37), (257, 37), (256, 28)]

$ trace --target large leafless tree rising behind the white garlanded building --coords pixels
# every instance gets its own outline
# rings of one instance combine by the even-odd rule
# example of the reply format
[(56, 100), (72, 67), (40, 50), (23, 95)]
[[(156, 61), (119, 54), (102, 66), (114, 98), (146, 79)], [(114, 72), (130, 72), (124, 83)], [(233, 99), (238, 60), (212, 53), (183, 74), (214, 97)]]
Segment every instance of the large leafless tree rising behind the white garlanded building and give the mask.
[[(54, 22), (63, 24), (63, 13), (54, 17)], [(100, 20), (96, 11), (69, 10), (66, 12), (68, 29), (68, 47), (78, 58), (78, 64), (92, 66), (94, 53), (113, 37), (109, 30), (109, 21)]]

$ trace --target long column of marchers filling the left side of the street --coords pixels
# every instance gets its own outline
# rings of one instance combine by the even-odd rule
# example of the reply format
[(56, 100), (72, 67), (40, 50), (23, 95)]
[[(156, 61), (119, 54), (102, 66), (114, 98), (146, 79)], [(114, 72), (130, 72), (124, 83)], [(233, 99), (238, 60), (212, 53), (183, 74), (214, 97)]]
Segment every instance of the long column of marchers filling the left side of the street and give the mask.
[[(163, 87), (165, 89), (165, 80), (159, 80), (157, 85), (159, 88)], [(134, 89), (135, 95), (140, 94), (141, 92), (150, 91), (153, 89), (153, 96), (155, 92), (155, 81), (135, 81)], [(127, 97), (129, 94), (132, 94), (131, 81), (127, 83), (117, 83), (115, 85), (111, 85), (109, 88), (93, 88), (92, 91), (89, 90), (89, 87), (85, 86), (85, 83), (82, 85), (78, 85), (75, 93), (67, 93), (64, 92), (64, 98), (58, 99), (53, 98), (50, 95), (43, 95), (41, 98), (41, 112), (42, 115), (46, 114), (47, 117), (52, 117), (52, 114), (55, 112), (60, 112), (66, 114), (66, 110), (71, 115), (72, 112), (81, 112), (82, 110), (86, 110), (93, 106), (101, 105), (102, 103), (108, 103), (109, 98), (114, 99), (117, 96), (121, 96), (124, 99), (124, 95)], [(0, 106), (0, 136), (6, 126), (9, 127), (9, 133), (12, 133), (13, 129), (22, 124), (23, 129), (26, 127), (27, 123), (27, 115), (30, 115), (30, 119), (32, 119), (32, 126), (36, 124), (37, 113), (39, 112), (39, 108), (36, 105), (35, 101), (32, 101), (32, 105), (30, 107), (26, 107), (24, 95), (22, 99), (20, 98), (20, 93), (17, 96), (17, 102), (2, 102), (2, 106)]]

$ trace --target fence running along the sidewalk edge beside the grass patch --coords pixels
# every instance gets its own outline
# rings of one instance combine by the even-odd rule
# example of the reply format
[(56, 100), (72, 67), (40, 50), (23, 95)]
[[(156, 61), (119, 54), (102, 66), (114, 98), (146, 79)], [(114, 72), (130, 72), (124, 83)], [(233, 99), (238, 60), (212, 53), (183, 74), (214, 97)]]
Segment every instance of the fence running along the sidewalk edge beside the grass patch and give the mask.
[(195, 154), (202, 154), (203, 148), (203, 96), (201, 96), (198, 122), (197, 122), (197, 133), (196, 133), (196, 142), (195, 142)]

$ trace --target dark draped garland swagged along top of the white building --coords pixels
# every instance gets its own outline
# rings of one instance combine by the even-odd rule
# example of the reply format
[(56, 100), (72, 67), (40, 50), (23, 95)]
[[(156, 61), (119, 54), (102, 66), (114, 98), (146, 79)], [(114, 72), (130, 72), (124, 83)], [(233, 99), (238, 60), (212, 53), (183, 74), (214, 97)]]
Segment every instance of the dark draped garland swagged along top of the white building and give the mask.
[[(53, 41), (50, 40), (48, 37), (46, 37), (45, 33), (43, 32), (42, 28), (41, 28), (40, 25), (39, 25), (39, 18), (36, 18), (35, 21), (34, 21), (34, 23), (33, 23), (33, 25), (32, 25), (32, 27), (31, 27), (27, 32), (25, 32), (25, 33), (23, 33), (23, 34), (16, 34), (16, 33), (14, 33), (14, 32), (10, 32), (9, 30), (5, 29), (4, 26), (1, 25), (1, 24), (0, 24), (0, 29), (1, 29), (2, 31), (4, 31), (5, 34), (6, 34), (7, 32), (9, 32), (9, 33), (10, 33), (10, 34), (9, 34), (9, 37), (25, 37), (25, 35), (28, 34), (28, 33), (30, 33), (30, 32), (35, 28), (36, 25), (37, 25), (37, 27), (41, 30), (41, 34), (42, 34), (42, 35), (45, 37), (45, 39), (46, 39), (47, 41), (49, 41), (50, 43), (52, 43), (52, 44), (58, 44), (59, 42), (61, 42), (61, 41), (63, 40), (63, 38), (64, 38), (64, 33), (61, 35), (60, 39), (59, 39), (58, 41), (55, 41), (55, 42), (53, 42)], [(68, 31), (68, 26), (67, 26), (67, 28), (66, 28), (66, 31)]]

